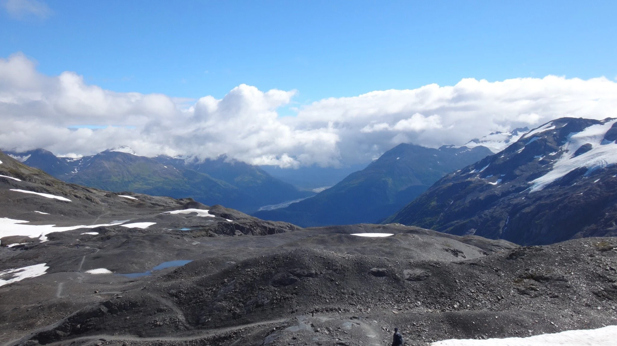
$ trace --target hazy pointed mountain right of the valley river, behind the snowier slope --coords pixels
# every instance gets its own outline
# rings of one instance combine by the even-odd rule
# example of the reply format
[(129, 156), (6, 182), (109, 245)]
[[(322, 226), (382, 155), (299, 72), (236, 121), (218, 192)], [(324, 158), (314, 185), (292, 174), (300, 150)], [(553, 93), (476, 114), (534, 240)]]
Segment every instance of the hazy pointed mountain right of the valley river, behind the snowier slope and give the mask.
[(413, 201), (445, 174), (491, 153), (482, 146), (434, 149), (402, 143), (316, 196), (252, 215), (302, 227), (377, 223)]

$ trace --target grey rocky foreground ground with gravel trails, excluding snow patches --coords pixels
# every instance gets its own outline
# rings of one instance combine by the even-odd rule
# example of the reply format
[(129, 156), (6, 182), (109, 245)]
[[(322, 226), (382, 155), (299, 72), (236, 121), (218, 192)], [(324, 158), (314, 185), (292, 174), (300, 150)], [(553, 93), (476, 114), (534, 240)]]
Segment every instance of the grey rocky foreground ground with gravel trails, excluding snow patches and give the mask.
[[(426, 345), (617, 324), (616, 238), (519, 247), (400, 224), (303, 229), (0, 161), (1, 175), (21, 180), (0, 177), (0, 217), (121, 220), (0, 239), (2, 345), (384, 345), (394, 327)], [(187, 208), (214, 216), (162, 214)], [(15, 232), (7, 224), (0, 231)], [(174, 260), (192, 262), (157, 267)], [(41, 264), (44, 274), (5, 282), (20, 275), (7, 270)]]

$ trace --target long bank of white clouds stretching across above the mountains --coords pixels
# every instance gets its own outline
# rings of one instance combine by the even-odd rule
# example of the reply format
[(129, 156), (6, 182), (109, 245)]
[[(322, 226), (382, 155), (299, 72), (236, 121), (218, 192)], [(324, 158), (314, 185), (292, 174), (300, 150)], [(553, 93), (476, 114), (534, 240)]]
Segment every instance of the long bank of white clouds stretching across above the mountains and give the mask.
[[(0, 148), (90, 155), (128, 145), (138, 155), (226, 155), (282, 167), (366, 163), (403, 142), (461, 145), (494, 131), (562, 116), (617, 117), (617, 82), (560, 76), (374, 91), (278, 115), (296, 91), (242, 84), (222, 99), (173, 99), (46, 76), (22, 54), (0, 58)], [(187, 106), (188, 105), (188, 106)], [(107, 126), (102, 129), (70, 127)]]

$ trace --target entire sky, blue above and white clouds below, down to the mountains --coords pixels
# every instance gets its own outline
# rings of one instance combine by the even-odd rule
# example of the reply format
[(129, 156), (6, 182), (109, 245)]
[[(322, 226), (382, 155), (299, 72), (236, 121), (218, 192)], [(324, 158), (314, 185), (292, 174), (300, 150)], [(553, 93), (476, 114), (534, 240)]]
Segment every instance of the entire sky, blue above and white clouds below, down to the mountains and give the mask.
[(399, 143), (617, 118), (616, 13), (617, 1), (0, 0), (0, 148), (339, 167)]

